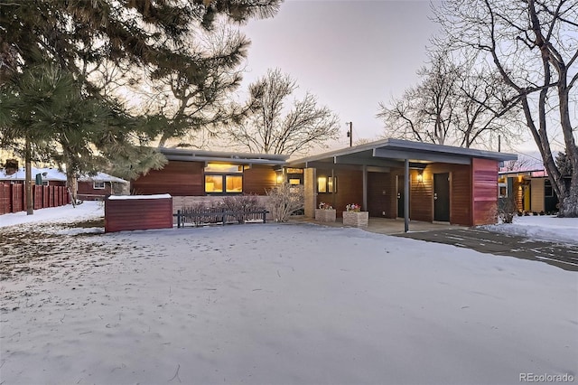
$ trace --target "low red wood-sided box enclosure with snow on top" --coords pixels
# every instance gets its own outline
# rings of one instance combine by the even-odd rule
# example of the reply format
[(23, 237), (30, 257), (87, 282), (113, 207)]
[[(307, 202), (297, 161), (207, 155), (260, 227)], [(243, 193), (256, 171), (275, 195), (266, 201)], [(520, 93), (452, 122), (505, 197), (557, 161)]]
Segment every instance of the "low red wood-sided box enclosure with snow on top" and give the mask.
[(172, 198), (105, 200), (105, 232), (172, 228)]

